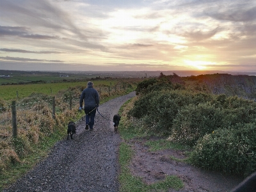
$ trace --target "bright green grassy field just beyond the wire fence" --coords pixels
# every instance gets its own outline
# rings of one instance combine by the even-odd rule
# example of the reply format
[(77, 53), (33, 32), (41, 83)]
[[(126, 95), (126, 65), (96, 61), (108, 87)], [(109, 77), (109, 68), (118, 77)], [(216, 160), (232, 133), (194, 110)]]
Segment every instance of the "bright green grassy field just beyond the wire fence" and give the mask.
[[(120, 80), (120, 79), (119, 79)], [(118, 83), (118, 80), (95, 80), (94, 86), (100, 84), (110, 86)], [(0, 85), (0, 98), (3, 100), (17, 99), (17, 92), (20, 98), (28, 97), (31, 93), (45, 93), (47, 95), (54, 95), (60, 90), (67, 90), (67, 88), (75, 86), (86, 86), (87, 81), (74, 83), (42, 83), (42, 84), (15, 84), (15, 85)]]

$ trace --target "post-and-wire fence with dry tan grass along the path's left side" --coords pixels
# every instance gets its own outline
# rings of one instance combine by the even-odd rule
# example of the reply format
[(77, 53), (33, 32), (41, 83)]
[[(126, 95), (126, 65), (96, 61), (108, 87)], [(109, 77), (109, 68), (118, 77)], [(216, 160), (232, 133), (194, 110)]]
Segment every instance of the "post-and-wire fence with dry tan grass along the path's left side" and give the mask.
[[(125, 84), (114, 86), (100, 86), (95, 88), (100, 99), (109, 97), (111, 94), (125, 90)], [(18, 93), (17, 93), (18, 94)], [(51, 127), (51, 121), (56, 115), (62, 118), (62, 113), (79, 108), (81, 90), (70, 90), (51, 95), (33, 95), (24, 99), (13, 100), (7, 106), (0, 106), (0, 141), (17, 136), (19, 132), (28, 131), (35, 126), (42, 129)]]

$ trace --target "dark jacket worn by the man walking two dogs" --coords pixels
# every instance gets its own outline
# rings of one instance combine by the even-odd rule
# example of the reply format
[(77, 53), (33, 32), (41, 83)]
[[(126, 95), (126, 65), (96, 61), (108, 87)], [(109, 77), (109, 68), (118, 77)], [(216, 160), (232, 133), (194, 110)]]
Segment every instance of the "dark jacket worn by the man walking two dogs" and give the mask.
[(95, 88), (92, 86), (88, 86), (88, 88), (84, 89), (80, 96), (80, 107), (83, 107), (84, 102), (84, 108), (86, 107), (92, 107), (92, 108), (98, 108), (99, 107), (99, 93)]

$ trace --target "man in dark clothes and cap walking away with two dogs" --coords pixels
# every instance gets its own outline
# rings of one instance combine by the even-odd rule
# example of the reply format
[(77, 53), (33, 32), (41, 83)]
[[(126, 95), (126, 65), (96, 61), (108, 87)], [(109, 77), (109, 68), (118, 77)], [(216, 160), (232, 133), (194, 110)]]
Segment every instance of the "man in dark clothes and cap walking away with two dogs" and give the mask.
[(88, 81), (87, 88), (81, 93), (79, 110), (82, 109), (83, 102), (86, 124), (85, 129), (88, 130), (90, 127), (90, 131), (92, 131), (96, 109), (99, 107), (99, 93), (93, 88), (92, 81)]

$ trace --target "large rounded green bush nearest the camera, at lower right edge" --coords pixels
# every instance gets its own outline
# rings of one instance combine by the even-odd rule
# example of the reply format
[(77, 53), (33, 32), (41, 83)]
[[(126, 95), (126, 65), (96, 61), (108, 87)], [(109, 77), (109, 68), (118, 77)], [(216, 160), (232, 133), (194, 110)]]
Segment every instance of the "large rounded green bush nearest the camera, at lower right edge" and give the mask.
[(191, 163), (207, 170), (243, 175), (256, 171), (255, 124), (241, 129), (217, 129), (198, 140)]

